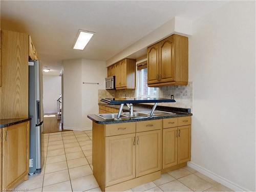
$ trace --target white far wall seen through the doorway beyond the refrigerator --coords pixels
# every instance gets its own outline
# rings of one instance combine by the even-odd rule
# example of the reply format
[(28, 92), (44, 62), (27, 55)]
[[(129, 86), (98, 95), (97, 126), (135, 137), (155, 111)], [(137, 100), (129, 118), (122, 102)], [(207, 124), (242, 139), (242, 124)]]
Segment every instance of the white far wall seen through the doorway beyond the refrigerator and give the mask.
[(61, 94), (61, 77), (53, 75), (42, 76), (44, 113), (57, 113), (57, 99)]

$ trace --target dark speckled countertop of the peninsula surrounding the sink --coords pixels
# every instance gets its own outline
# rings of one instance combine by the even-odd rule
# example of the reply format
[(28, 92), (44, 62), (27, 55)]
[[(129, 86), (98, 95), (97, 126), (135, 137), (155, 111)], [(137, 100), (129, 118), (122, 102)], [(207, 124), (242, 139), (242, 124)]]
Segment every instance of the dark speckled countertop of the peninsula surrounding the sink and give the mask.
[[(102, 104), (102, 103), (99, 103)], [(104, 105), (104, 104), (103, 104)], [(110, 106), (112, 108), (117, 108), (119, 109), (120, 105), (108, 105), (105, 104), (106, 106)], [(152, 105), (148, 104), (136, 104), (134, 105), (134, 111), (141, 111), (141, 112), (149, 112), (151, 111)], [(92, 121), (98, 123), (98, 124), (113, 124), (113, 123), (125, 123), (125, 122), (136, 122), (136, 121), (147, 121), (147, 120), (155, 120), (155, 119), (166, 119), (166, 118), (175, 118), (175, 117), (185, 117), (185, 116), (192, 116), (193, 114), (191, 113), (190, 109), (186, 108), (174, 108), (170, 106), (157, 106), (157, 109), (159, 111), (165, 111), (165, 112), (172, 112), (173, 114), (170, 115), (164, 115), (164, 116), (154, 116), (154, 117), (135, 117), (133, 119), (127, 118), (127, 119), (122, 119), (120, 121), (118, 120), (105, 120), (95, 114), (90, 114), (87, 117), (91, 119)], [(123, 111), (125, 109), (123, 108)], [(128, 111), (128, 108), (127, 108)]]

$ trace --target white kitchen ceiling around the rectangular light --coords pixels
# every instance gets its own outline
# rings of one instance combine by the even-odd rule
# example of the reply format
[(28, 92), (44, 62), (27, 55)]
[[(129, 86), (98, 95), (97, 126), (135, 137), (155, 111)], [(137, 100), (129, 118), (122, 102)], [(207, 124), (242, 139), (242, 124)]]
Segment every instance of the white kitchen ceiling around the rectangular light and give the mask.
[[(1, 27), (32, 36), (44, 66), (61, 60), (107, 60), (174, 16), (195, 20), (223, 1), (1, 1)], [(83, 50), (72, 46), (79, 29), (95, 35)]]

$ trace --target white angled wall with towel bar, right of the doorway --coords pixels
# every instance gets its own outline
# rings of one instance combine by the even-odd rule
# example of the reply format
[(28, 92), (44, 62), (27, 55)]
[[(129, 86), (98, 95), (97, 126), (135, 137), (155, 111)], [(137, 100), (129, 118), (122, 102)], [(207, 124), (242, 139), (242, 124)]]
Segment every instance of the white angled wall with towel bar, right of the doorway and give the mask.
[(63, 61), (64, 129), (92, 129), (92, 121), (87, 115), (98, 113), (98, 90), (105, 89), (105, 64), (105, 61), (90, 59)]

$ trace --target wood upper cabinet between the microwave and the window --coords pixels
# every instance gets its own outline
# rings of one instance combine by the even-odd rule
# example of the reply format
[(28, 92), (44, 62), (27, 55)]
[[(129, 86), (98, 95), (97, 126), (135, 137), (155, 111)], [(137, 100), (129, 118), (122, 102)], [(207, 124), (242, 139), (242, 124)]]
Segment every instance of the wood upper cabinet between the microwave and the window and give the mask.
[(135, 89), (136, 59), (123, 59), (115, 64), (116, 89)]

